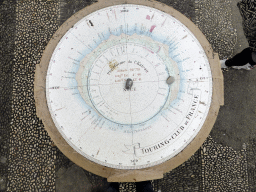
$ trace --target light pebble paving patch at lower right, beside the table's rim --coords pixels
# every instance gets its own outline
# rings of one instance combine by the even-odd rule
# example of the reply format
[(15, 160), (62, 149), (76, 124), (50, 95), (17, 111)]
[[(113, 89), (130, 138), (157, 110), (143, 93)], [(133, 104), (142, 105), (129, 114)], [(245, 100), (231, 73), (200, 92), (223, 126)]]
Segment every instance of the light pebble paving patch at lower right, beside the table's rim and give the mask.
[(217, 144), (211, 136), (202, 154), (202, 191), (248, 191), (246, 145), (241, 151)]

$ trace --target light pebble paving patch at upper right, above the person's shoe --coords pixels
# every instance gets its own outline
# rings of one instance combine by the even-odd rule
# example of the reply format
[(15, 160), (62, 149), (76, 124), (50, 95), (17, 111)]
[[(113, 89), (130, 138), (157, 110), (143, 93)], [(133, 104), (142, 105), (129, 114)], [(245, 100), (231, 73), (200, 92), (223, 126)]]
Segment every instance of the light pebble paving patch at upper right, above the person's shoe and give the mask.
[(220, 59), (229, 58), (237, 42), (232, 26), (232, 0), (195, 0), (194, 23), (204, 33)]

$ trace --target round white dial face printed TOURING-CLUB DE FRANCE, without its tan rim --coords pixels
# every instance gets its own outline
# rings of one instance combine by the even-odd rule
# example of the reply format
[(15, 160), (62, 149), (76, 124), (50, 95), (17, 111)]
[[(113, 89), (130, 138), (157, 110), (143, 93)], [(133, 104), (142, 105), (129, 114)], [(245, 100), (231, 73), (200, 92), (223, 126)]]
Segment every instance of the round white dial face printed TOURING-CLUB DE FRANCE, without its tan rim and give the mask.
[[(110, 9), (112, 9), (112, 11), (110, 11)], [(104, 15), (106, 16), (105, 19)], [(121, 22), (121, 18), (124, 20), (124, 17), (125, 21)], [(108, 23), (111, 23), (111, 25), (108, 25)], [(170, 30), (174, 28), (179, 32)], [(123, 37), (122, 34), (124, 34)], [(161, 36), (158, 36), (159, 34), (161, 34)], [(89, 35), (90, 38), (88, 38)], [(134, 35), (137, 35), (137, 37)], [(88, 39), (88, 41), (85, 41), (85, 39)], [(116, 43), (119, 40), (123, 42)], [(71, 46), (72, 42), (73, 45)], [(160, 44), (163, 46), (157, 46)], [(187, 44), (193, 44), (191, 46), (195, 47), (195, 50), (187, 50)], [(140, 49), (140, 47), (143, 46), (152, 50), (155, 55), (158, 55), (159, 59), (162, 59), (162, 62), (164, 62), (164, 65), (166, 65), (167, 62), (167, 54), (170, 58), (175, 60), (180, 72), (180, 76), (175, 79), (180, 82), (176, 96), (177, 99), (174, 98), (172, 102), (168, 103), (166, 106), (161, 104), (161, 106), (164, 107), (160, 109), (160, 111), (155, 109), (159, 104), (155, 104), (153, 108), (156, 111), (156, 115), (153, 116), (153, 118), (149, 116), (147, 121), (142, 118), (141, 120), (137, 119), (138, 124), (136, 125), (131, 126), (133, 123), (128, 123), (127, 125), (124, 124), (120, 126), (123, 120), (121, 117), (118, 117), (118, 119), (115, 115), (117, 108), (122, 109), (122, 107), (120, 108), (120, 106), (123, 106), (121, 105), (121, 101), (125, 101), (122, 99), (126, 95), (125, 91), (123, 91), (126, 78), (124, 78), (124, 76), (115, 77), (115, 75), (118, 75), (116, 70), (126, 69), (127, 72), (121, 73), (127, 74), (128, 76), (136, 74), (136, 76), (131, 78), (134, 78), (132, 88), (136, 88), (137, 90), (131, 89), (127, 95), (129, 96), (127, 97), (127, 101), (129, 101), (127, 106), (130, 106), (130, 119), (132, 115), (131, 111), (139, 108), (144, 109), (145, 107), (143, 107), (143, 103), (141, 102), (144, 101), (144, 98), (149, 101), (152, 97), (152, 91), (141, 91), (140, 96), (137, 96), (137, 94), (134, 95), (135, 92), (139, 91), (140, 93), (140, 90), (145, 89), (145, 87), (147, 87), (146, 90), (154, 90), (153, 93), (159, 95), (157, 102), (161, 101), (163, 95), (165, 96), (164, 98), (168, 95), (166, 90), (169, 88), (167, 89), (165, 87), (166, 85), (163, 84), (166, 79), (161, 79), (160, 77), (166, 76), (167, 78), (169, 74), (164, 75), (166, 74), (165, 70), (170, 73), (172, 68), (167, 67), (164, 69), (164, 65), (155, 66), (159, 62), (155, 62), (153, 65), (151, 63), (152, 54), (146, 49)], [(168, 49), (165, 48), (166, 46)], [(112, 49), (114, 47), (115, 49)], [(150, 167), (175, 156), (200, 130), (211, 102), (211, 71), (201, 45), (183, 24), (179, 23), (179, 21), (171, 16), (156, 9), (137, 5), (122, 5), (105, 8), (90, 14), (74, 25), (74, 27), (70, 29), (70, 32), (65, 35), (65, 38), (60, 41), (57, 48), (52, 56), (47, 73), (46, 90), (48, 106), (51, 113), (56, 114), (53, 119), (63, 137), (76, 151), (86, 158), (101, 165), (120, 169)], [(107, 52), (104, 53), (105, 51)], [(91, 57), (93, 58), (92, 60), (87, 60), (87, 63), (91, 63), (91, 65), (88, 64), (89, 67), (88, 65), (84, 65), (85, 67), (83, 67), (83, 70), (90, 71), (91, 73), (89, 77), (90, 80), (88, 81), (89, 84), (84, 82), (79, 85), (77, 82), (79, 67), (82, 65), (83, 59), (89, 55), (93, 56)], [(102, 55), (102, 57), (99, 58), (100, 55)], [(133, 58), (130, 59), (133, 61), (132, 63), (128, 63), (129, 57)], [(156, 58), (157, 57), (152, 61), (156, 61)], [(120, 63), (121, 60), (125, 61), (123, 64), (124, 67), (122, 68), (122, 65), (119, 65), (113, 73), (111, 72), (113, 76), (112, 74), (105, 75), (104, 79), (102, 77), (103, 72), (107, 74), (110, 70), (108, 64), (112, 59), (115, 59), (118, 63)], [(139, 66), (135, 64), (134, 60), (140, 60), (142, 65)], [(196, 61), (195, 64), (194, 61)], [(198, 69), (197, 67), (191, 67), (191, 64), (198, 66)], [(152, 71), (156, 70), (157, 72), (154, 72), (155, 75), (153, 75), (151, 79), (147, 79), (148, 73), (146, 73), (142, 66), (146, 68), (154, 66), (150, 70), (147, 69), (148, 73), (153, 73)], [(107, 67), (109, 70), (106, 70)], [(138, 72), (129, 70), (133, 68), (140, 70)], [(76, 75), (73, 74), (74, 72)], [(86, 78), (86, 73), (81, 73), (81, 75), (83, 77), (82, 79), (88, 79)], [(109, 79), (109, 82), (104, 81), (107, 80), (109, 76), (113, 78)], [(140, 76), (142, 76), (142, 78)], [(138, 81), (139, 78), (141, 78), (142, 81)], [(122, 81), (115, 82), (115, 80)], [(160, 85), (159, 87), (158, 84)], [(153, 85), (156, 88), (154, 88)], [(122, 88), (121, 91), (117, 91), (119, 87)], [(112, 89), (114, 89), (114, 91)], [(86, 93), (86, 90), (89, 92), (87, 91)], [(191, 99), (198, 91), (201, 95), (200, 102), (196, 104), (196, 108), (193, 110), (194, 108), (191, 108), (191, 104), (189, 104), (188, 101), (191, 103)], [(76, 93), (76, 95), (72, 95), (74, 93)], [(110, 97), (110, 94), (115, 94), (115, 96), (112, 95)], [(173, 90), (169, 95), (173, 95)], [(97, 100), (100, 97), (104, 100), (107, 99), (109, 105), (101, 105), (103, 100)], [(134, 100), (132, 97), (136, 99)], [(113, 99), (115, 101), (113, 101)], [(155, 99), (153, 101), (155, 101)], [(97, 106), (99, 108), (98, 110), (95, 108), (95, 105), (100, 105)], [(108, 108), (103, 109), (103, 106)], [(135, 106), (138, 107), (135, 108)], [(87, 111), (85, 109), (90, 109), (91, 113), (82, 115), (83, 112)], [(195, 112), (192, 113), (191, 110)], [(70, 113), (70, 111), (72, 112)], [(72, 115), (72, 113), (74, 113), (74, 115)], [(182, 116), (179, 116), (179, 114)], [(136, 154), (136, 150), (161, 143), (166, 136), (173, 135), (174, 133), (177, 134), (181, 123), (186, 122), (187, 116), (192, 118), (190, 119), (190, 124), (187, 123), (189, 126), (186, 127), (186, 131), (173, 139), (173, 145), (166, 145), (166, 148), (160, 151), (156, 150), (154, 154), (147, 154), (145, 157), (142, 156), (138, 158), (137, 155), (139, 154)], [(102, 118), (102, 120), (100, 120), (100, 118)], [(111, 118), (114, 118), (118, 123), (113, 123), (113, 120), (108, 120)], [(135, 122), (136, 118), (137, 117), (132, 116), (133, 120), (131, 122)], [(95, 124), (92, 124), (93, 122)], [(105, 123), (103, 124), (101, 122)], [(77, 131), (74, 131), (74, 127), (76, 127)], [(79, 134), (79, 132), (81, 134)], [(96, 135), (99, 137), (98, 139), (95, 139)], [(147, 135), (146, 138), (145, 135)], [(70, 138), (72, 139), (70, 140)], [(93, 139), (97, 141), (100, 140), (101, 142), (95, 143)], [(186, 142), (184, 142), (185, 140)], [(118, 144), (116, 142), (118, 142)], [(106, 150), (104, 150), (101, 143), (104, 143)], [(175, 149), (173, 146), (175, 146)], [(107, 151), (112, 151), (113, 156), (109, 155)], [(171, 152), (169, 153), (167, 151)], [(122, 157), (116, 160), (114, 156), (118, 155)]]

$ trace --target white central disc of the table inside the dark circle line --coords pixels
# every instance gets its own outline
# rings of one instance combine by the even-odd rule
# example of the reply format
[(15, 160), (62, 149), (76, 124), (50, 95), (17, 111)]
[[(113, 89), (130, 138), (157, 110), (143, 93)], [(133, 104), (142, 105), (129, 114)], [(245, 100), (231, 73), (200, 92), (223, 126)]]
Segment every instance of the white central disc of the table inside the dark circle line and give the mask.
[[(164, 93), (159, 92), (159, 74), (168, 76), (168, 71), (157, 71), (154, 63), (159, 61), (150, 62), (139, 52), (115, 55), (100, 65), (98, 60), (107, 58), (110, 51), (102, 53), (90, 70), (88, 91), (93, 106), (104, 117), (119, 124), (138, 124), (149, 120), (161, 110), (168, 97), (168, 85)], [(128, 78), (133, 80), (131, 90), (125, 89)], [(96, 82), (98, 91), (96, 86), (91, 89), (91, 82)]]

